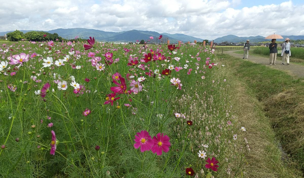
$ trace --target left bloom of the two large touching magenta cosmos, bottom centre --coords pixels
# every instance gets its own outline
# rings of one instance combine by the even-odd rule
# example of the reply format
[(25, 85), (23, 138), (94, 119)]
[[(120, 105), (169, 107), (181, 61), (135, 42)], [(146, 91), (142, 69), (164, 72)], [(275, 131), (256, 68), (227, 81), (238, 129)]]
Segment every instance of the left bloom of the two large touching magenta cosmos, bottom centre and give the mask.
[(140, 147), (140, 151), (149, 151), (154, 145), (154, 141), (146, 130), (137, 132), (134, 139), (134, 148), (137, 149)]

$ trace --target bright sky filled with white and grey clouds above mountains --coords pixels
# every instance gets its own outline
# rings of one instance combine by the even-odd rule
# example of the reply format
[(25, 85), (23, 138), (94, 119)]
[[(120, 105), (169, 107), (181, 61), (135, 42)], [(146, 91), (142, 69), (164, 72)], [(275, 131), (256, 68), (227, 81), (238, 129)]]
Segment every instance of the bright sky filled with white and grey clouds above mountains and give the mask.
[(92, 28), (225, 35), (304, 35), (303, 0), (0, 0), (0, 31)]

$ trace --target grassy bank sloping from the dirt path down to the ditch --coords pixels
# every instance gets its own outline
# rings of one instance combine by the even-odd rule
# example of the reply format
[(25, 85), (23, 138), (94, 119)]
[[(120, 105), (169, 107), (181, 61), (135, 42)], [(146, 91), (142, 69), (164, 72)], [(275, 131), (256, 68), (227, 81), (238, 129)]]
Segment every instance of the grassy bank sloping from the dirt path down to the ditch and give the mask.
[[(260, 118), (265, 125), (260, 126), (260, 134), (266, 128), (271, 131), (269, 129), (271, 124), (276, 138), (280, 140), (287, 154), (285, 158), (288, 159), (287, 163), (304, 172), (303, 78), (293, 78), (285, 72), (250, 61), (242, 61), (229, 55), (219, 57), (225, 58), (227, 65), (233, 66), (233, 74), (239, 81), (244, 82), (247, 94), (256, 98), (262, 105), (260, 110), (265, 116), (264, 121), (262, 121), (263, 117)], [(264, 134), (264, 137), (273, 140), (272, 135), (268, 135), (267, 132)], [(276, 149), (275, 152), (277, 151)]]

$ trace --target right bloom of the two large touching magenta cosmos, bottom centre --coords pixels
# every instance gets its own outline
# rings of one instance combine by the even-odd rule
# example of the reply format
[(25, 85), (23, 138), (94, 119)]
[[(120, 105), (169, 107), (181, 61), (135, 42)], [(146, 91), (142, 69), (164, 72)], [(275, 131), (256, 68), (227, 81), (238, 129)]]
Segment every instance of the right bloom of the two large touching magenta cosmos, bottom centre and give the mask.
[(170, 138), (168, 135), (164, 135), (162, 133), (158, 133), (156, 135), (157, 137), (153, 137), (154, 145), (151, 148), (152, 153), (156, 153), (157, 155), (161, 155), (162, 151), (167, 153), (169, 151), (170, 144)]

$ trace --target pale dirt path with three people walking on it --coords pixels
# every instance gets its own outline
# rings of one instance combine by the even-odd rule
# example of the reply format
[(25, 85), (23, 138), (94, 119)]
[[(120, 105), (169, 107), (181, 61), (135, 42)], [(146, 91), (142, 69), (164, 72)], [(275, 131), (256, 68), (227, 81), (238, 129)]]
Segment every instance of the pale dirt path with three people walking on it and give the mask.
[[(240, 50), (237, 50), (237, 51), (240, 51)], [(240, 59), (243, 58), (243, 54), (237, 54), (234, 52), (235, 52), (235, 50), (234, 51), (224, 51), (225, 54), (229, 54), (230, 56), (240, 58)], [(248, 60), (248, 61), (252, 61), (255, 63), (259, 63), (259, 64), (264, 64), (271, 68), (286, 71), (289, 74), (296, 76), (296, 77), (304, 77), (304, 66), (292, 64), (292, 63), (290, 63), (290, 65), (282, 65), (281, 57), (277, 58), (277, 60), (275, 62), (277, 65), (269, 65), (269, 58), (250, 55), (250, 51), (249, 51), (248, 59), (242, 59), (242, 60)]]

